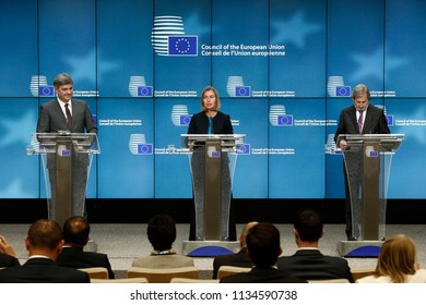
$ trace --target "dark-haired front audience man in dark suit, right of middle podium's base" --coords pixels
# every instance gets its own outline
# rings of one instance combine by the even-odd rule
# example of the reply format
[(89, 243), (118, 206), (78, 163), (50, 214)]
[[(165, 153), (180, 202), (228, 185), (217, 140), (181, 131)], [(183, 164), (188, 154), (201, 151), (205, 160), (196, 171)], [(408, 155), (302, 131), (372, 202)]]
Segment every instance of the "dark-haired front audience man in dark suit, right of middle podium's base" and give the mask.
[(280, 231), (269, 222), (253, 225), (246, 237), (247, 253), (253, 264), (249, 272), (224, 277), (221, 283), (307, 283), (288, 277), (276, 269), (276, 260), (282, 253)]

